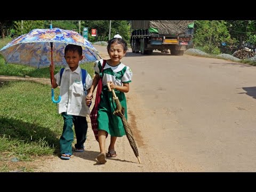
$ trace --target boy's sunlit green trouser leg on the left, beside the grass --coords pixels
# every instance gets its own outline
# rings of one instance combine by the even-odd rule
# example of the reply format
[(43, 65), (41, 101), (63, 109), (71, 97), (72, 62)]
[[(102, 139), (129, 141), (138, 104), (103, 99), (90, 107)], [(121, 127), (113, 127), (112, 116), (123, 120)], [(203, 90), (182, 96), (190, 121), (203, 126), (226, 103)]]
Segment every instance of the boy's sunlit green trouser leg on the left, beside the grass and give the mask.
[(64, 119), (63, 131), (60, 137), (60, 154), (72, 154), (73, 133), (73, 116), (62, 113)]

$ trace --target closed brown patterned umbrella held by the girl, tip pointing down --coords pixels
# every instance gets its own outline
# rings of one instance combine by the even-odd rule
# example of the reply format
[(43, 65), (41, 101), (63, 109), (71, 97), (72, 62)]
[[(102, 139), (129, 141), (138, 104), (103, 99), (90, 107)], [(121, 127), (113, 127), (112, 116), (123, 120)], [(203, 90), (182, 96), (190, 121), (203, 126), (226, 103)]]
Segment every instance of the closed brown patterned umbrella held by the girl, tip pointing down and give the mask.
[(114, 90), (112, 90), (109, 86), (109, 83), (107, 83), (107, 86), (108, 86), (108, 90), (109, 91), (112, 91), (112, 94), (113, 94), (113, 99), (115, 100), (115, 103), (116, 103), (116, 109), (114, 111), (114, 115), (117, 115), (118, 117), (121, 118), (122, 120), (122, 123), (124, 125), (124, 131), (125, 131), (125, 134), (126, 134), (126, 137), (130, 143), (130, 146), (132, 147), (132, 150), (134, 152), (134, 155), (138, 158), (138, 161), (139, 163), (141, 163), (140, 161), (140, 157), (139, 157), (139, 151), (138, 151), (138, 148), (136, 146), (136, 143), (135, 143), (135, 140), (133, 138), (133, 134), (132, 134), (132, 130), (124, 116), (124, 108), (121, 106), (121, 103), (118, 99), (118, 97), (116, 97), (116, 93)]

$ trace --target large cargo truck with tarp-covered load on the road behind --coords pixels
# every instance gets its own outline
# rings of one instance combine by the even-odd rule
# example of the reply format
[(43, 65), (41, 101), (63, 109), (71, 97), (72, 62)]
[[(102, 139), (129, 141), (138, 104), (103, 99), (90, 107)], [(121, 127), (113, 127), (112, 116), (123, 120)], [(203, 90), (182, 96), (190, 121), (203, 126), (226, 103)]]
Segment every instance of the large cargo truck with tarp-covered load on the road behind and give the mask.
[(183, 55), (193, 45), (193, 20), (132, 20), (131, 29), (133, 53)]

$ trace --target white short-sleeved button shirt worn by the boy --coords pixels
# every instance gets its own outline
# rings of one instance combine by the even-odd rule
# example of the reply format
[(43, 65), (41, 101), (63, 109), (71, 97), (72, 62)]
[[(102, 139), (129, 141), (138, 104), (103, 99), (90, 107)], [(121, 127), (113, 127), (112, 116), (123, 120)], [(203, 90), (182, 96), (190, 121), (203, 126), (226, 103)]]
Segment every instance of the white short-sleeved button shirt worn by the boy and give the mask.
[[(92, 86), (92, 78), (88, 73), (86, 74), (85, 87), (88, 90)], [(63, 71), (61, 82), (60, 72), (55, 74), (54, 77), (57, 85), (60, 86), (59, 114), (67, 112), (68, 115), (83, 117), (90, 115), (90, 109), (86, 105), (80, 66), (75, 71), (71, 71), (69, 67), (66, 67)]]

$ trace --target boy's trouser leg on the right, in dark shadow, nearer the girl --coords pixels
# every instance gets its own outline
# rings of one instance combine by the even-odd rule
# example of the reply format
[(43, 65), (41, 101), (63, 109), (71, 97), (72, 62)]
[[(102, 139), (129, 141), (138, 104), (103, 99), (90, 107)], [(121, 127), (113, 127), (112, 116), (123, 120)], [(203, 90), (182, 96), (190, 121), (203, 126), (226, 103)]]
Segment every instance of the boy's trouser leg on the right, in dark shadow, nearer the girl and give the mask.
[(86, 117), (82, 116), (74, 116), (74, 126), (75, 126), (75, 133), (76, 133), (76, 149), (83, 149), (84, 142), (86, 140), (86, 134), (88, 129), (88, 123), (86, 121)]

